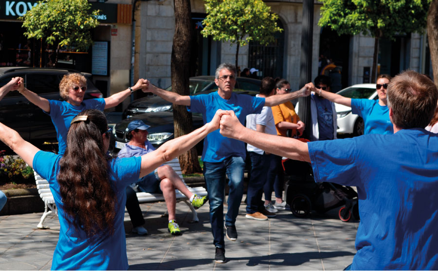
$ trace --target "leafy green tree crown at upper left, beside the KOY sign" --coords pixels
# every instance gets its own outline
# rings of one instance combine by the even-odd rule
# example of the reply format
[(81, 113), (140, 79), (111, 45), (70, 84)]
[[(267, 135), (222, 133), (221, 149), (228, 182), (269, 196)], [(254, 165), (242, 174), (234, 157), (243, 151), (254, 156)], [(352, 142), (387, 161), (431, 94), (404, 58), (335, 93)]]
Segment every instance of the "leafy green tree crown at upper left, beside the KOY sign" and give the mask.
[(56, 48), (87, 51), (92, 43), (90, 30), (99, 22), (98, 10), (90, 12), (87, 0), (43, 0), (23, 17), (24, 33), (28, 38), (43, 39)]

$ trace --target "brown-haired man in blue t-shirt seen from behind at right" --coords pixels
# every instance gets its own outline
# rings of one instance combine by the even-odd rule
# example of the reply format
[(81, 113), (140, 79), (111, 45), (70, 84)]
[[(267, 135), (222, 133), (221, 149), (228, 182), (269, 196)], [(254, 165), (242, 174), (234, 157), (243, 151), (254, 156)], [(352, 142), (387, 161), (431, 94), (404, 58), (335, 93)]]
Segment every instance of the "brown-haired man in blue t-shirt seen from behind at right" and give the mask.
[(220, 134), (311, 162), (316, 182), (357, 186), (357, 253), (346, 270), (438, 270), (438, 134), (424, 129), (438, 90), (411, 70), (387, 89), (394, 134), (304, 143), (247, 129), (233, 112)]

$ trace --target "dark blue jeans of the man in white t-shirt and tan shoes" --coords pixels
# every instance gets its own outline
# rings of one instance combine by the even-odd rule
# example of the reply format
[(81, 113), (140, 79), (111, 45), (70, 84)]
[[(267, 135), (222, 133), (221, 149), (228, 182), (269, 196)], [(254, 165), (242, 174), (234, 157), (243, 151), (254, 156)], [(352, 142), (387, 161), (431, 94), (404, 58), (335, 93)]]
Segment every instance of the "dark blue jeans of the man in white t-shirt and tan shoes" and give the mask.
[(254, 214), (262, 207), (263, 186), (268, 180), (271, 159), (274, 154), (258, 154), (249, 152), (251, 158), (251, 175), (246, 193), (246, 212)]

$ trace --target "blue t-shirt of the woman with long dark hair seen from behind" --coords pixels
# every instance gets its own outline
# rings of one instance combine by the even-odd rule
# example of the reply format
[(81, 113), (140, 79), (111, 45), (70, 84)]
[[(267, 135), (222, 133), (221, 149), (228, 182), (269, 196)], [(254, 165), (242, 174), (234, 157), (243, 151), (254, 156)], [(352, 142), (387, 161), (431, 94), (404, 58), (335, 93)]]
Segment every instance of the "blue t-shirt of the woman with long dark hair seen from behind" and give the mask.
[[(34, 157), (35, 171), (50, 185), (60, 224), (59, 239), (53, 254), (52, 270), (127, 270), (125, 218), (126, 186), (137, 182), (141, 157), (115, 158), (109, 162), (110, 183), (117, 197), (114, 234), (87, 238), (81, 229), (69, 226), (56, 175), (62, 155), (39, 151)], [(86, 162), (86, 161), (84, 161)]]

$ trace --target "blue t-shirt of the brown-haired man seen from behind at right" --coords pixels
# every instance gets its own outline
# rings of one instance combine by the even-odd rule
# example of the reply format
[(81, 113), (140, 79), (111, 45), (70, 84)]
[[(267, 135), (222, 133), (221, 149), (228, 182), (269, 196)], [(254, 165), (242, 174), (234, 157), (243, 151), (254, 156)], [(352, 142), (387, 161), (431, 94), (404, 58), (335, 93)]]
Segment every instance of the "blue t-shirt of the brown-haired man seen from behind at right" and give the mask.
[(308, 147), (316, 182), (357, 186), (352, 270), (438, 270), (437, 134), (417, 128)]

